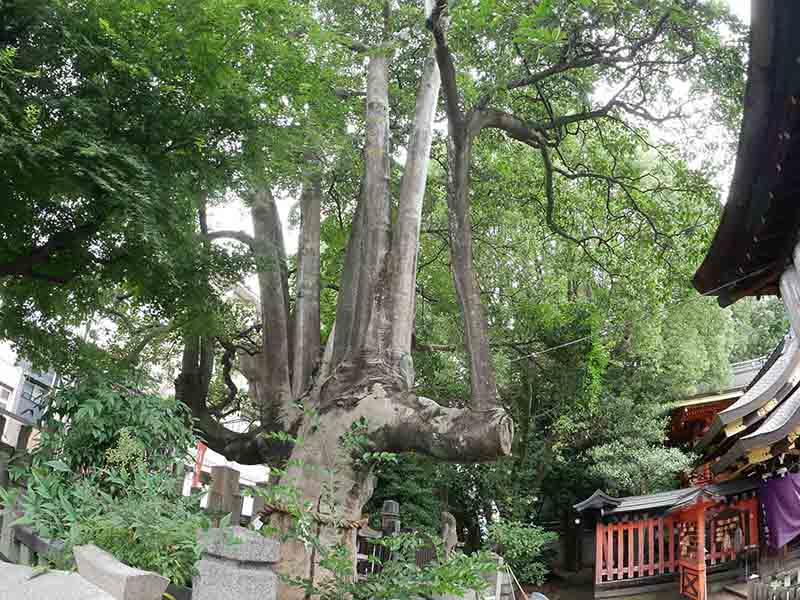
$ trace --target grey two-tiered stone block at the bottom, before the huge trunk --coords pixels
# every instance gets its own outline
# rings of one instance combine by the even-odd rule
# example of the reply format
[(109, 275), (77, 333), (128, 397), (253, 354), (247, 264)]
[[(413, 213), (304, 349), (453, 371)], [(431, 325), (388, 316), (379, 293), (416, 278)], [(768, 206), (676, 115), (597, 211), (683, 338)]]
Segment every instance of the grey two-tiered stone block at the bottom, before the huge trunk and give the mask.
[(202, 559), (195, 565), (192, 600), (277, 600), (280, 543), (245, 529), (200, 533)]

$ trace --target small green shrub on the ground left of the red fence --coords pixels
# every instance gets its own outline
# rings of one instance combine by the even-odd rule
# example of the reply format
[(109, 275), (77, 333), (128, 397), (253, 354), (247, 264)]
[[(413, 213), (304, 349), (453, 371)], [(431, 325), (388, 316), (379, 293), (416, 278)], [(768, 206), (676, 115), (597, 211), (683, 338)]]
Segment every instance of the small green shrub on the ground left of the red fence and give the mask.
[(523, 583), (541, 584), (547, 575), (546, 554), (557, 539), (536, 525), (503, 521), (489, 527), (489, 541)]

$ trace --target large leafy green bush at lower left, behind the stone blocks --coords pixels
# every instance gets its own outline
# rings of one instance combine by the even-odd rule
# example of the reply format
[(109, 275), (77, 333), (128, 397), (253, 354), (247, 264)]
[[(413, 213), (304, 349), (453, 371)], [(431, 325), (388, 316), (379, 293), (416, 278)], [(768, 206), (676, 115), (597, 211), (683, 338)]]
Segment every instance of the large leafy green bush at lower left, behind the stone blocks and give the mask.
[[(101, 377), (57, 393), (20, 498), (23, 521), (50, 539), (93, 543), (178, 585), (200, 557), (197, 530), (210, 521), (184, 498), (182, 465), (194, 444), (185, 408)], [(172, 473), (176, 474), (173, 475)]]

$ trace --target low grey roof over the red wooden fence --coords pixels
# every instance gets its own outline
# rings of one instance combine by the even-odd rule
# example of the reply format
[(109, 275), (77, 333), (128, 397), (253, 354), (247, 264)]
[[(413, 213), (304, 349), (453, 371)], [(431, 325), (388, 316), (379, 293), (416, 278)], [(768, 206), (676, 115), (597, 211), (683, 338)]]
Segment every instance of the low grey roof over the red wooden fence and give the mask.
[(756, 479), (734, 479), (721, 483), (711, 483), (646, 496), (626, 496), (615, 498), (597, 490), (583, 502), (574, 506), (578, 512), (599, 510), (603, 516), (629, 513), (668, 513), (691, 504), (700, 496), (729, 497), (744, 494), (758, 488)]

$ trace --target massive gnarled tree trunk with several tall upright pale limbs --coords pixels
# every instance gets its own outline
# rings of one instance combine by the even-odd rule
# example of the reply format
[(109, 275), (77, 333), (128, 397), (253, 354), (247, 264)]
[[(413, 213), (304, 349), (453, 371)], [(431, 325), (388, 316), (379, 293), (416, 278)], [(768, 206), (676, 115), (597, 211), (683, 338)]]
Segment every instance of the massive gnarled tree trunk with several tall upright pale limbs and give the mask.
[[(369, 59), (362, 193), (346, 252), (336, 323), (323, 356), (319, 352), (320, 185), (314, 176), (306, 182), (301, 200), (292, 318), (274, 201), (269, 190), (251, 196), (255, 237), (243, 241), (250, 244), (259, 264), (263, 347), (254, 357), (243, 356), (241, 366), (251, 398), (260, 407), (260, 427), (234, 433), (209, 418), (205, 394), (211, 366), (196, 356), (196, 342), (187, 343), (184, 369), (176, 382), (179, 396), (192, 408), (211, 448), (243, 463), (290, 465), (281, 483), (295, 485), (312, 510), (339, 520), (359, 519), (373, 489), (371, 468), (354, 462), (342, 448), (342, 437), (354, 424), (363, 428), (370, 451), (417, 451), (455, 462), (490, 461), (509, 454), (513, 437), (512, 421), (496, 397), (486, 318), (472, 272), (469, 205), (463, 187), (457, 188), (449, 210), (454, 280), (472, 356), (473, 398), (464, 403), (470, 408), (448, 408), (414, 391), (416, 265), (440, 77), (431, 56), (419, 86), (397, 219), (392, 224), (389, 67), (385, 52)], [(465, 166), (453, 164), (451, 177), (466, 175)], [(317, 425), (310, 426), (308, 413), (294, 407), (298, 400), (318, 416)], [(275, 431), (289, 432), (301, 442), (291, 445), (264, 435)], [(286, 526), (287, 518), (276, 517), (276, 522)], [(352, 530), (330, 525), (320, 525), (318, 533), (323, 541), (344, 541), (350, 547), (355, 539)], [(320, 576), (317, 557), (299, 543), (282, 549), (282, 569), (294, 577)], [(284, 589), (280, 597), (302, 598), (303, 592)]]

